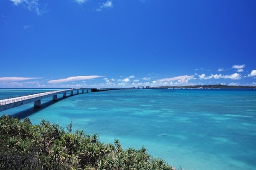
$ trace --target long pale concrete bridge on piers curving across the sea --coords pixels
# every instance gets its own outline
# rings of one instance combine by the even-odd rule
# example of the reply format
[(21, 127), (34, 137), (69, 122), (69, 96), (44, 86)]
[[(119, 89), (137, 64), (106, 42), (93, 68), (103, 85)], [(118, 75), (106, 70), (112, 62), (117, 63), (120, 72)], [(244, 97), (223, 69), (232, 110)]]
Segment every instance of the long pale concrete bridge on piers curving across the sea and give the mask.
[[(109, 90), (122, 90), (122, 89), (141, 89), (141, 88), (150, 88), (149, 86), (139, 86), (133, 88), (72, 88), (72, 89), (64, 89), (57, 91), (49, 91), (39, 94), (31, 94), (27, 96), (13, 97), (8, 99), (0, 99), (0, 111), (6, 111), (11, 108), (15, 108), (21, 105), (25, 105), (27, 103), (34, 102), (34, 108), (40, 108), (41, 99), (52, 97), (53, 101), (57, 101), (57, 94), (63, 94), (63, 98), (67, 97), (67, 93), (70, 92), (70, 96), (76, 94), (84, 94), (88, 92), (99, 92), (99, 91), (109, 91)], [(79, 93), (80, 91), (80, 93)]]

